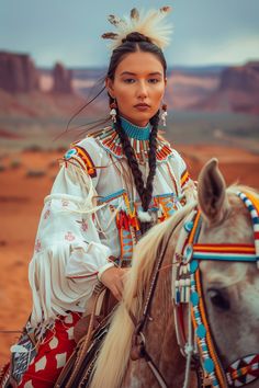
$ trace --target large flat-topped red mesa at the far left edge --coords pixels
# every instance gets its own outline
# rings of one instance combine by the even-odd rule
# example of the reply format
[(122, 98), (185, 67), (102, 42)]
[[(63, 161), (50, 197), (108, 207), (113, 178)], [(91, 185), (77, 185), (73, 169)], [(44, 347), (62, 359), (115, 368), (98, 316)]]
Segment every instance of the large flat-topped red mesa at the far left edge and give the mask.
[(29, 55), (0, 52), (0, 88), (9, 93), (40, 89), (40, 75)]

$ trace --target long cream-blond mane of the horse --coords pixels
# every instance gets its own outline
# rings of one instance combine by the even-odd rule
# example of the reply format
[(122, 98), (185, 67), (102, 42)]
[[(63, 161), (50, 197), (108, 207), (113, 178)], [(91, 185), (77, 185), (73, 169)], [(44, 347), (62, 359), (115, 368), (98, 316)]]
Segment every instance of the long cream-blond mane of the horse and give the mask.
[[(259, 201), (259, 194), (248, 186), (232, 185), (227, 189), (229, 195), (237, 191), (250, 193)], [(137, 319), (140, 317), (144, 289), (150, 282), (159, 246), (195, 205), (196, 203), (192, 202), (177, 210), (168, 220), (151, 228), (137, 243), (133, 255), (133, 265), (125, 282), (123, 303), (119, 305), (113, 316), (106, 339), (95, 363), (91, 388), (121, 387), (130, 360), (132, 335), (135, 329), (128, 316), (128, 308)]]

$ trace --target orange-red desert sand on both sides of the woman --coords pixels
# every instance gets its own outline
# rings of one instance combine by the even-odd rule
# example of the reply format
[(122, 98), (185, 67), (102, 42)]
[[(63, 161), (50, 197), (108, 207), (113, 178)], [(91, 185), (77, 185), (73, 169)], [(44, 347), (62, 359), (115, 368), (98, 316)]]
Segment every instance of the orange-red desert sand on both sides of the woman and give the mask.
[[(193, 179), (213, 156), (218, 158), (227, 184), (239, 181), (259, 189), (258, 153), (215, 145), (179, 145), (177, 149)], [(43, 199), (61, 156), (61, 151), (31, 150), (2, 155), (0, 160), (0, 364), (8, 361), (10, 346), (30, 315), (27, 265)]]

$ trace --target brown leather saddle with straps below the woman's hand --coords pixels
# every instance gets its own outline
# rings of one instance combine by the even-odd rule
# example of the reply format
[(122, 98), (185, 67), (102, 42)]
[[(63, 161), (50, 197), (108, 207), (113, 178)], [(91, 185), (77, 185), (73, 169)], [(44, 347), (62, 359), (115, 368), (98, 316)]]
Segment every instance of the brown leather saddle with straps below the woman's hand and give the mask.
[(94, 292), (91, 313), (82, 317), (75, 327), (77, 346), (64, 366), (55, 388), (82, 388), (89, 385), (116, 304), (117, 300), (104, 286)]

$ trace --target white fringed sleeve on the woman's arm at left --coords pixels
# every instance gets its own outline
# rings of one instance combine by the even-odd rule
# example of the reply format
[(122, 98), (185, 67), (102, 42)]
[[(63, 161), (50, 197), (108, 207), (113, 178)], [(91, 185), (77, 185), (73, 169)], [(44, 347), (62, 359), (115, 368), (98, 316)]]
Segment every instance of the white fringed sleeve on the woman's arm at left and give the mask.
[(32, 324), (67, 310), (83, 311), (99, 271), (109, 263), (111, 250), (100, 240), (95, 218), (97, 179), (69, 158), (45, 198), (29, 270)]

